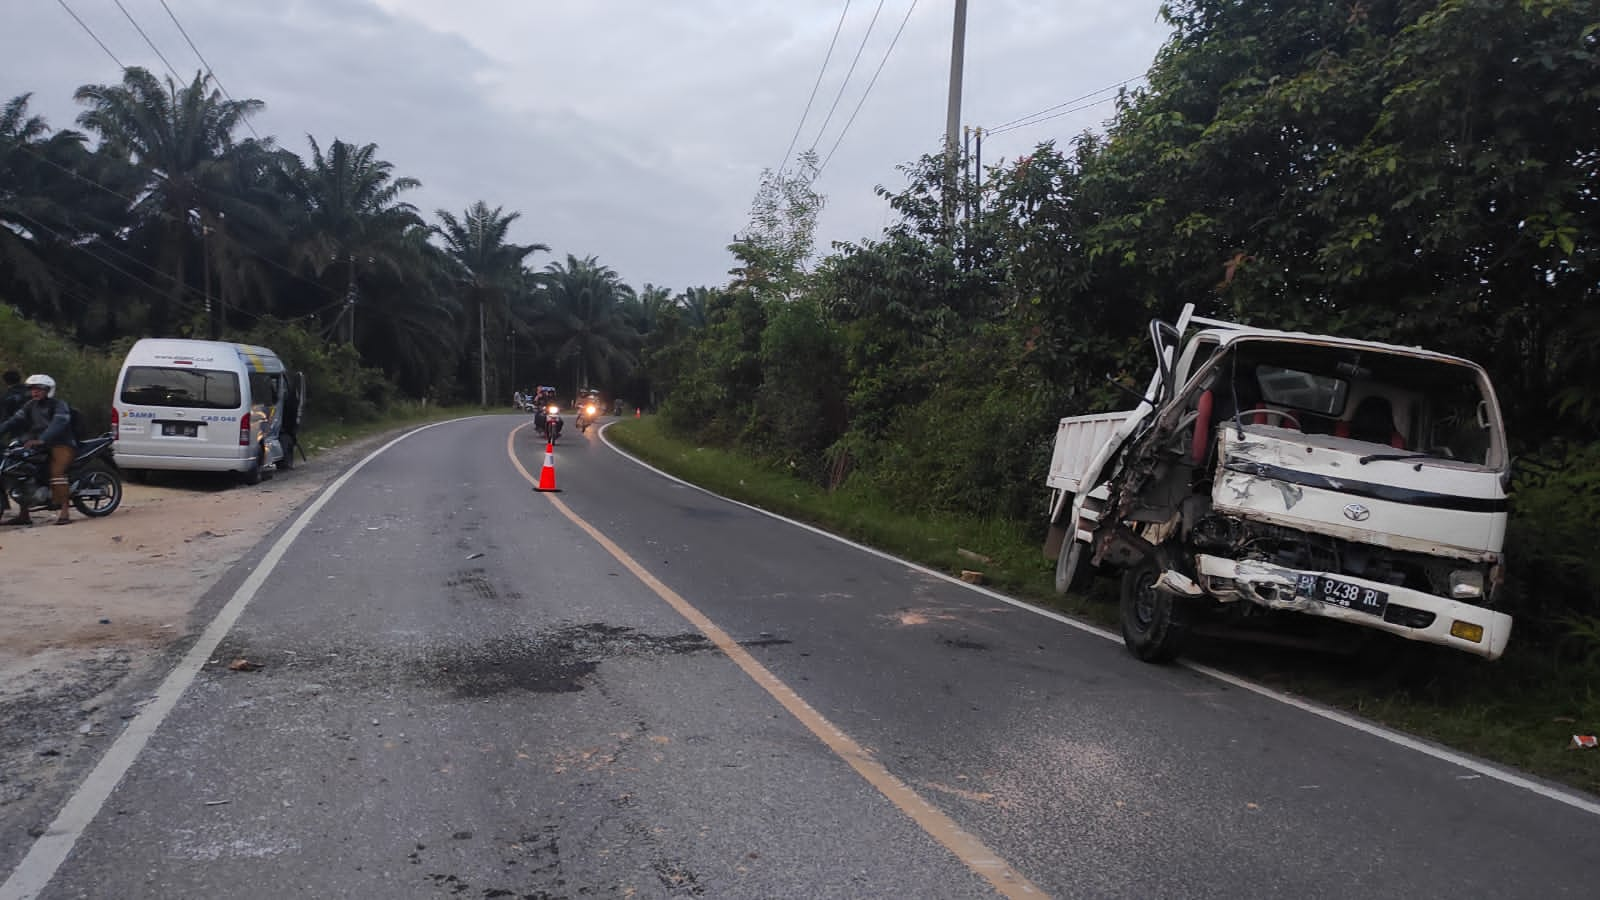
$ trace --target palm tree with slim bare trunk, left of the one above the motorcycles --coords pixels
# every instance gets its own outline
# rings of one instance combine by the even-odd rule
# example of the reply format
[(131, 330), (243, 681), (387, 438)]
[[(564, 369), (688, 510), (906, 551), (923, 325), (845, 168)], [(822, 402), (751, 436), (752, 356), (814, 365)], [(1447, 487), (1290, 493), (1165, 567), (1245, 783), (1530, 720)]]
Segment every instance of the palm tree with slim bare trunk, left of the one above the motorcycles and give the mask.
[(491, 210), (483, 200), (467, 207), (459, 219), (438, 210), (437, 215), (443, 226), (434, 227), (434, 234), (445, 242), (445, 255), (451, 263), (451, 280), (456, 285), (456, 298), (462, 312), (477, 319), (478, 402), (485, 407), (490, 402), (490, 341), (485, 328), (494, 325), (496, 335), (509, 330), (512, 325), (510, 298), (523, 283), (522, 261), (534, 251), (550, 250), (542, 243), (507, 242), (506, 232), (510, 229), (510, 223), (522, 218), (522, 213), (501, 210), (502, 207)]

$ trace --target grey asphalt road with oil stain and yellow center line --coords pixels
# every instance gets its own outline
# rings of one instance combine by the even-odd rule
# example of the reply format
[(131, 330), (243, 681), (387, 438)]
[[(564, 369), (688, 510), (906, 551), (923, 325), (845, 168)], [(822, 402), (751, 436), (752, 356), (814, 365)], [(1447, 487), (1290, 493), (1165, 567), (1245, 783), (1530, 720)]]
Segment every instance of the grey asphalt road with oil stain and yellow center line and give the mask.
[(70, 855), (0, 897), (1595, 895), (1592, 798), (1138, 663), (594, 431), (534, 493), (523, 421), (413, 434), (269, 538)]

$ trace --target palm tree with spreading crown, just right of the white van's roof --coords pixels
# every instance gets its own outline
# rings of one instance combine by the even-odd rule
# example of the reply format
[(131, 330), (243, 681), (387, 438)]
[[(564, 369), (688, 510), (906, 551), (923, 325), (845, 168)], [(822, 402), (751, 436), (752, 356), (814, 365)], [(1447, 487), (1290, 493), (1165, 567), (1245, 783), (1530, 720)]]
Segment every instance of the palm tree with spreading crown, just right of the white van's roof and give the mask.
[(403, 191), (421, 187), (414, 178), (394, 178), (394, 165), (376, 159), (378, 144), (360, 147), (338, 138), (323, 154), (310, 143), (310, 165), (283, 155), (285, 192), (294, 202), (293, 253), (320, 279), (338, 267), (344, 280), (339, 319), (346, 343), (355, 343), (355, 303), (360, 271), (384, 269), (405, 277), (418, 271), (421, 256), (405, 240), (422, 218), (400, 200)]

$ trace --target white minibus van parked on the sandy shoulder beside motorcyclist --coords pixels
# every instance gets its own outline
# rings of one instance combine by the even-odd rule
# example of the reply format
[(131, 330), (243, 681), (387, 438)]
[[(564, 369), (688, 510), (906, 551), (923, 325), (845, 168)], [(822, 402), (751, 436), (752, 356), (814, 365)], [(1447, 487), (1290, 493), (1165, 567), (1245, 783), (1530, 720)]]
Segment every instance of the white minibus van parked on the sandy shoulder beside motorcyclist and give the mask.
[(128, 351), (110, 431), (125, 471), (238, 472), (294, 466), (304, 378), (267, 348), (146, 338)]

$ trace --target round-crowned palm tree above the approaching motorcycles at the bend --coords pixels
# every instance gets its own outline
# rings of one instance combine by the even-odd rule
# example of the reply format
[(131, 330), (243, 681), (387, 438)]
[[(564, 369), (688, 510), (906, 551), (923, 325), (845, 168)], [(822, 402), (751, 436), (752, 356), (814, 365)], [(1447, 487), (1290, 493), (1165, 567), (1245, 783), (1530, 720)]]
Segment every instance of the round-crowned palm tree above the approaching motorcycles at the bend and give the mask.
[(568, 360), (579, 389), (590, 386), (590, 375), (611, 386), (638, 365), (634, 349), (638, 330), (629, 309), (634, 288), (594, 256), (568, 255), (566, 264), (550, 263), (539, 279), (544, 319), (538, 330), (555, 343), (555, 364)]

